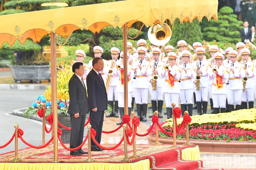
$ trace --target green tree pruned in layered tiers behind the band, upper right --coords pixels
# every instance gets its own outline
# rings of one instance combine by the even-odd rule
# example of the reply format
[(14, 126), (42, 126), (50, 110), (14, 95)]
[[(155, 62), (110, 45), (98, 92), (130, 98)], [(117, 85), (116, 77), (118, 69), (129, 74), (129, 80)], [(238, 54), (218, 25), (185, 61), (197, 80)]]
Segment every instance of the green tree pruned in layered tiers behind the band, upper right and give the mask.
[(206, 41), (213, 39), (225, 43), (233, 43), (241, 41), (239, 30), (243, 28), (243, 22), (237, 20), (237, 15), (233, 14), (233, 9), (224, 6), (218, 13), (218, 21), (212, 19), (211, 22), (202, 21), (203, 38)]

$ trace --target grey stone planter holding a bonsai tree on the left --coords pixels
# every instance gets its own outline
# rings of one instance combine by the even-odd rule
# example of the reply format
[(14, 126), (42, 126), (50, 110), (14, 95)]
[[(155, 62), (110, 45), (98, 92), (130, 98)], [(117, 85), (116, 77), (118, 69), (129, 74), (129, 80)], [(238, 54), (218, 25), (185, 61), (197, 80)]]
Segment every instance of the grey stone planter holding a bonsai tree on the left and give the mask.
[(49, 65), (11, 65), (7, 64), (11, 70), (14, 82), (21, 83), (21, 80), (30, 80), (40, 83), (41, 80), (49, 80)]

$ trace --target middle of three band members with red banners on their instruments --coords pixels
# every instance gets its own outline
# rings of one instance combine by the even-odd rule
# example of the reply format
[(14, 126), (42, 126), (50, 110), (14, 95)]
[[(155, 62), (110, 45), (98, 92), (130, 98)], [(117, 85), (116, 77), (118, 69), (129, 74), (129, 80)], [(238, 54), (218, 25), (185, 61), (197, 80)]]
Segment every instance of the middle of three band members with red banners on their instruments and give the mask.
[[(172, 103), (179, 103), (180, 88), (179, 78), (180, 69), (176, 66), (176, 59), (178, 58), (174, 52), (168, 53), (168, 69), (163, 68), (162, 72), (158, 72), (159, 78), (165, 78), (164, 81), (164, 98), (166, 103), (167, 119), (172, 118)], [(176, 107), (179, 107), (178, 104)]]

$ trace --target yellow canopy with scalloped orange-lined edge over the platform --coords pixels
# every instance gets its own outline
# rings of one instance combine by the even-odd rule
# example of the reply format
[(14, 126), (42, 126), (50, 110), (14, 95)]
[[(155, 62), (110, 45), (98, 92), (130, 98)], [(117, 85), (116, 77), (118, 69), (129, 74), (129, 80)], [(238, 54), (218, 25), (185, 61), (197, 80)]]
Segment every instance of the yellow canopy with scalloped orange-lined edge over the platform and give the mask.
[(92, 4), (44, 11), (25, 12), (0, 16), (0, 48), (4, 42), (10, 46), (27, 38), (40, 41), (48, 33), (56, 32), (62, 37), (73, 30), (86, 29), (100, 33), (105, 26), (131, 27), (137, 21), (146, 26), (171, 23), (176, 18), (180, 22), (202, 21), (205, 16), (217, 20), (218, 0), (126, 0), (119, 2)]

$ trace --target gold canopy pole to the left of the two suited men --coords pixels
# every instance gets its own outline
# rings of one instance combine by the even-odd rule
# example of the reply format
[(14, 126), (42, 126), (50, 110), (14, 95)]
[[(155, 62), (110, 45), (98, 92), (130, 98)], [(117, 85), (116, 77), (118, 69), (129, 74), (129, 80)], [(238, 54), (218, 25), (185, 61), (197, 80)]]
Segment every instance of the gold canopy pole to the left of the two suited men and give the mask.
[(53, 162), (58, 162), (58, 113), (57, 113), (57, 52), (56, 33), (51, 32), (51, 87), (53, 113)]

